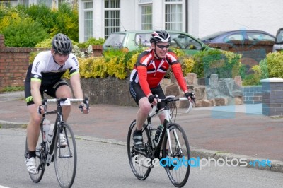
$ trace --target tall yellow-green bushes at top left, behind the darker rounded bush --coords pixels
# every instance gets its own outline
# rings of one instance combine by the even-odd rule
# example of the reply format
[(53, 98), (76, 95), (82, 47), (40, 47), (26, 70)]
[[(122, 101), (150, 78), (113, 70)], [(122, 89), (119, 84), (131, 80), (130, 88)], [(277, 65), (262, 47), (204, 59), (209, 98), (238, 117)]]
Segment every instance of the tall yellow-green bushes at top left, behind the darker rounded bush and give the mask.
[[(77, 9), (72, 8), (69, 4), (60, 4), (58, 10), (53, 10), (45, 4), (18, 5), (8, 8), (8, 10), (0, 6), (0, 32), (11, 24), (10, 20), (15, 18), (15, 16), (23, 19), (30, 18), (33, 22), (39, 23), (41, 25), (40, 28), (44, 28), (50, 38), (57, 33), (64, 33), (71, 40), (79, 41), (79, 14)], [(37, 26), (30, 28), (30, 30), (36, 28)]]

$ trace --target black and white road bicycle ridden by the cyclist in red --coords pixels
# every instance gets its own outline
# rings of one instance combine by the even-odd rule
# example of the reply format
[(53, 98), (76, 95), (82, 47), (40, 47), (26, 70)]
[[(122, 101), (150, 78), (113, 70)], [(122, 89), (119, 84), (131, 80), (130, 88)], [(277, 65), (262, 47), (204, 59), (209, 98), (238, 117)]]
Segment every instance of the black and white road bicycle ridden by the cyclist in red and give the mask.
[[(194, 98), (195, 94), (192, 93)], [(191, 98), (192, 98), (191, 97)], [(158, 102), (165, 102), (163, 110), (156, 110), (154, 106), (149, 116), (147, 117), (146, 124), (143, 125), (142, 136), (145, 149), (139, 151), (134, 148), (133, 133), (136, 129), (136, 120), (129, 126), (127, 135), (127, 153), (129, 158), (129, 165), (132, 172), (139, 180), (146, 180), (149, 177), (151, 169), (154, 165), (160, 165), (165, 168), (169, 179), (175, 187), (183, 187), (190, 175), (190, 146), (187, 141), (185, 131), (179, 124), (175, 123), (177, 115), (177, 108), (175, 101), (188, 100), (187, 98), (179, 98), (175, 96), (167, 96), (165, 99), (158, 99)], [(192, 103), (187, 112), (192, 109)], [(163, 123), (163, 130), (161, 130), (160, 141), (154, 143), (156, 137), (151, 119), (160, 113), (165, 113), (165, 120)], [(157, 139), (158, 140), (158, 139)], [(156, 140), (156, 141), (157, 141)], [(158, 161), (158, 164), (156, 163)]]

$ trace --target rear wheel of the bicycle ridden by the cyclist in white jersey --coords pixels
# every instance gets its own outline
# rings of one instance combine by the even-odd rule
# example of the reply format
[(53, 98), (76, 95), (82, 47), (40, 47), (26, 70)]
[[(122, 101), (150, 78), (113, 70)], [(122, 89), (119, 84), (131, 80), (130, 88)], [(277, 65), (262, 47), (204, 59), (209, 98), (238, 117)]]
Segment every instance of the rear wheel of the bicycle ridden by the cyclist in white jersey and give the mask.
[[(28, 174), (30, 175), (30, 179), (33, 180), (33, 182), (38, 183), (40, 182), (40, 180), (43, 177), (43, 174), (45, 172), (45, 147), (42, 148), (42, 145), (46, 144), (43, 142), (42, 139), (42, 132), (40, 131), (40, 135), (38, 136), (38, 141), (35, 147), (35, 161), (36, 161), (36, 166), (37, 166), (37, 170), (38, 173), (37, 174), (32, 174), (30, 172), (28, 172)], [(28, 137), (25, 138), (25, 158), (27, 158), (28, 156)]]

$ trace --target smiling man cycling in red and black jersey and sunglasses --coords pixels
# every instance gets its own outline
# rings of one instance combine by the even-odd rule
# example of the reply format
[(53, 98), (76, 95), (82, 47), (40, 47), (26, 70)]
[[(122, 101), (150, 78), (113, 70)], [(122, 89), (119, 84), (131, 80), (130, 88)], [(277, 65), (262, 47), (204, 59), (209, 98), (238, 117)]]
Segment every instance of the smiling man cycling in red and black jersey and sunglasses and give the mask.
[[(178, 81), (180, 88), (185, 93), (185, 96), (190, 98), (190, 92), (187, 90), (187, 84), (183, 78), (183, 72), (180, 62), (176, 54), (169, 49), (171, 36), (166, 30), (156, 30), (151, 34), (151, 49), (139, 54), (137, 63), (132, 70), (130, 77), (129, 91), (134, 98), (134, 101), (139, 105), (137, 112), (136, 124), (137, 129), (134, 131), (134, 147), (143, 150), (144, 144), (142, 141), (142, 125), (151, 110), (151, 105), (156, 105), (157, 101), (154, 95), (159, 98), (165, 98), (161, 88), (161, 80), (166, 74), (166, 71), (172, 68), (173, 74)], [(162, 109), (164, 104), (158, 102), (158, 109)], [(161, 124), (164, 121), (164, 115), (159, 115)]]

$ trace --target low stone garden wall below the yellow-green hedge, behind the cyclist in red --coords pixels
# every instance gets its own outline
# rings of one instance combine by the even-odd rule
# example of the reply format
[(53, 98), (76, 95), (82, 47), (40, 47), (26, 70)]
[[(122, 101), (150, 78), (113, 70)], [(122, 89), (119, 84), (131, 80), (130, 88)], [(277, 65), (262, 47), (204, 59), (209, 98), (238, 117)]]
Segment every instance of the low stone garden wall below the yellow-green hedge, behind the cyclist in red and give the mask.
[[(234, 79), (218, 79), (218, 75), (213, 74), (205, 84), (197, 80), (196, 74), (187, 74), (185, 77), (187, 86), (195, 91), (196, 107), (243, 104), (240, 76)], [(81, 85), (91, 104), (137, 106), (129, 94), (129, 78), (82, 78)], [(165, 95), (183, 96), (183, 90), (180, 90), (175, 79), (163, 79), (161, 87)], [(177, 102), (180, 108), (188, 105), (187, 101)]]

